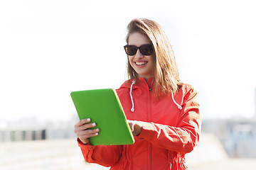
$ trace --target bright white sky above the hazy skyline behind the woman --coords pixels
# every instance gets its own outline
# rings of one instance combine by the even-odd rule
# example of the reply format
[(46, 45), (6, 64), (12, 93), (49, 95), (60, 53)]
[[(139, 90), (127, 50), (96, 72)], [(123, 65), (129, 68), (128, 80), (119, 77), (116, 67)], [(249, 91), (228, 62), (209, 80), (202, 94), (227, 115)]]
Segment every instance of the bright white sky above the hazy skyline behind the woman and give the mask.
[(0, 1), (0, 120), (65, 120), (71, 91), (117, 89), (133, 18), (163, 26), (204, 118), (250, 118), (255, 16), (253, 0)]

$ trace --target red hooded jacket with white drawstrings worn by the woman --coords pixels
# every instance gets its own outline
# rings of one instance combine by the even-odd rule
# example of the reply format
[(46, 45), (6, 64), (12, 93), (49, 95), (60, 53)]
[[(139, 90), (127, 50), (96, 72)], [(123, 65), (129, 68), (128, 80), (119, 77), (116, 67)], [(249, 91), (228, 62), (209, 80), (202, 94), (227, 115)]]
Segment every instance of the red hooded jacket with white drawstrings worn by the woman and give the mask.
[(141, 121), (141, 134), (134, 137), (134, 145), (92, 146), (78, 140), (85, 160), (112, 170), (187, 169), (184, 155), (197, 145), (201, 130), (196, 91), (183, 84), (174, 98), (163, 96), (156, 101), (154, 79), (132, 84), (132, 98), (131, 84), (132, 80), (124, 82), (117, 94), (127, 119)]

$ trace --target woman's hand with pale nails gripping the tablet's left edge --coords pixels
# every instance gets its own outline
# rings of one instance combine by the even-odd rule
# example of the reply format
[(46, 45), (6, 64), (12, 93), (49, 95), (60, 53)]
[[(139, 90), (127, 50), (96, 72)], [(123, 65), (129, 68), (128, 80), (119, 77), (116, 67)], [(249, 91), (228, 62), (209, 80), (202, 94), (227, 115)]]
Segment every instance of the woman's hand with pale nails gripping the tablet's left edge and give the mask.
[(100, 129), (89, 129), (96, 126), (96, 123), (90, 123), (90, 118), (82, 119), (77, 124), (75, 124), (75, 134), (78, 136), (80, 141), (84, 144), (89, 142), (89, 137), (94, 137), (99, 135)]

